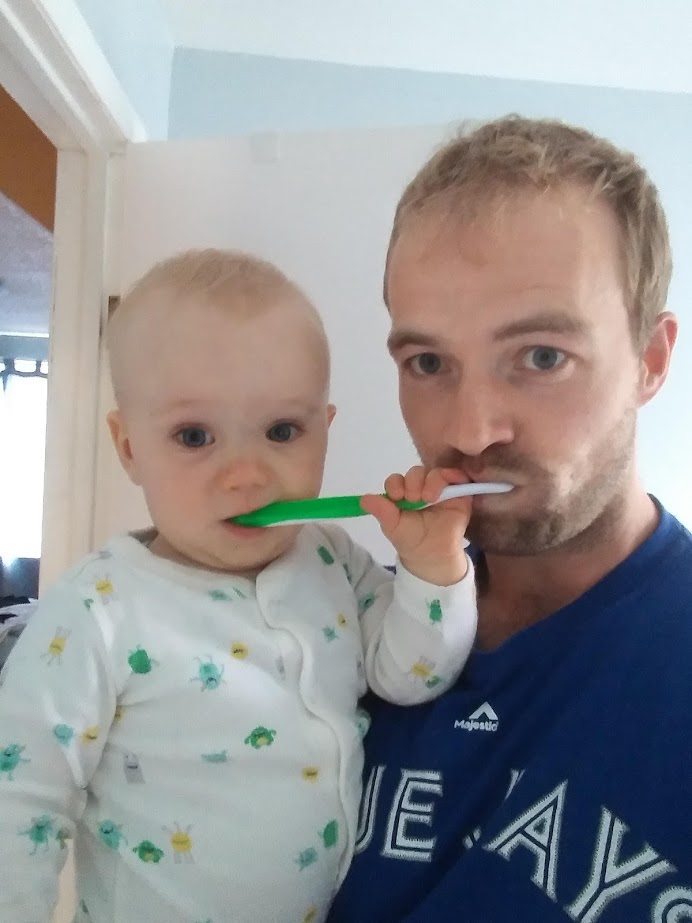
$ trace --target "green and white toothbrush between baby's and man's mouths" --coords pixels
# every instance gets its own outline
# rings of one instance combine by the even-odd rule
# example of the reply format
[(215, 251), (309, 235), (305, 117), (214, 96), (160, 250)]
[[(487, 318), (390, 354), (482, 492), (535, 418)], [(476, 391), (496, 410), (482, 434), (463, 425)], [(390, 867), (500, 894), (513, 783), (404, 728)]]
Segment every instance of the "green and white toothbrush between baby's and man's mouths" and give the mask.
[[(454, 497), (471, 497), (476, 494), (504, 494), (512, 490), (511, 484), (499, 483), (470, 483), (449, 484), (442, 489), (440, 496), (434, 503), (422, 501), (413, 503), (409, 500), (398, 500), (396, 505), (400, 510), (422, 510), (427, 506), (434, 506), (444, 500)], [(382, 494), (383, 497), (386, 494)], [(238, 526), (289, 526), (308, 520), (320, 519), (350, 519), (354, 516), (367, 516), (368, 514), (360, 505), (362, 497), (353, 494), (346, 497), (315, 497), (310, 500), (283, 500), (270, 503), (251, 513), (234, 516), (229, 521)]]

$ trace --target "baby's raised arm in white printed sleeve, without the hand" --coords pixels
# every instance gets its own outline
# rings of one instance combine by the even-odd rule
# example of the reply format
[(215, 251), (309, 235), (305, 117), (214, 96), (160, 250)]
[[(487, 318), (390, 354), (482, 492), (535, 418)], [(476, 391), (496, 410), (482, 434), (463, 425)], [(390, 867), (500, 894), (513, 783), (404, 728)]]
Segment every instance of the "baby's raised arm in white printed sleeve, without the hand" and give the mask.
[(471, 561), (458, 583), (436, 586), (400, 563), (392, 574), (341, 530), (332, 542), (358, 601), (368, 686), (398, 705), (436, 698), (458, 678), (475, 638)]

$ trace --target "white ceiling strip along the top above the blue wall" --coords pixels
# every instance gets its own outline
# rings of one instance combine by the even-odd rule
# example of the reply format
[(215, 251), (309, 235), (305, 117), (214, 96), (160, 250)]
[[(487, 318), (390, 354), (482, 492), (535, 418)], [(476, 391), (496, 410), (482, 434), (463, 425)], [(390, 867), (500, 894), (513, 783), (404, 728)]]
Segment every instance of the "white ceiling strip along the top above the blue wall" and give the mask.
[(692, 0), (159, 0), (174, 44), (692, 93)]

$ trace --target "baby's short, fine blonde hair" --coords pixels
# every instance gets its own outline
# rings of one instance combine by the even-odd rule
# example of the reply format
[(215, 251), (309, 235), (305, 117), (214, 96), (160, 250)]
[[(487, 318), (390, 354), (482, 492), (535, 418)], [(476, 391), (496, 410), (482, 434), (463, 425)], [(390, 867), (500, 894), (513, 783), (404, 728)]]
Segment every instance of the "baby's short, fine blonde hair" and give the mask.
[(128, 290), (108, 321), (107, 347), (113, 388), (118, 397), (120, 340), (129, 319), (152, 297), (185, 298), (200, 306), (214, 305), (240, 317), (275, 306), (281, 296), (305, 311), (314, 328), (329, 378), (329, 345), (319, 312), (305, 292), (277, 266), (240, 250), (185, 250), (156, 263)]

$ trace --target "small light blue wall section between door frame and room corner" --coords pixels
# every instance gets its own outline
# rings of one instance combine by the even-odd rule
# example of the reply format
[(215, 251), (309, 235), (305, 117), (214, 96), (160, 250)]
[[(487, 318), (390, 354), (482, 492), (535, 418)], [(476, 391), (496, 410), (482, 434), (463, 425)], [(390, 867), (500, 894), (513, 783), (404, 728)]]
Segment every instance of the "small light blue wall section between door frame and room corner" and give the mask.
[(77, 0), (151, 140), (168, 135), (173, 40), (158, 0)]

